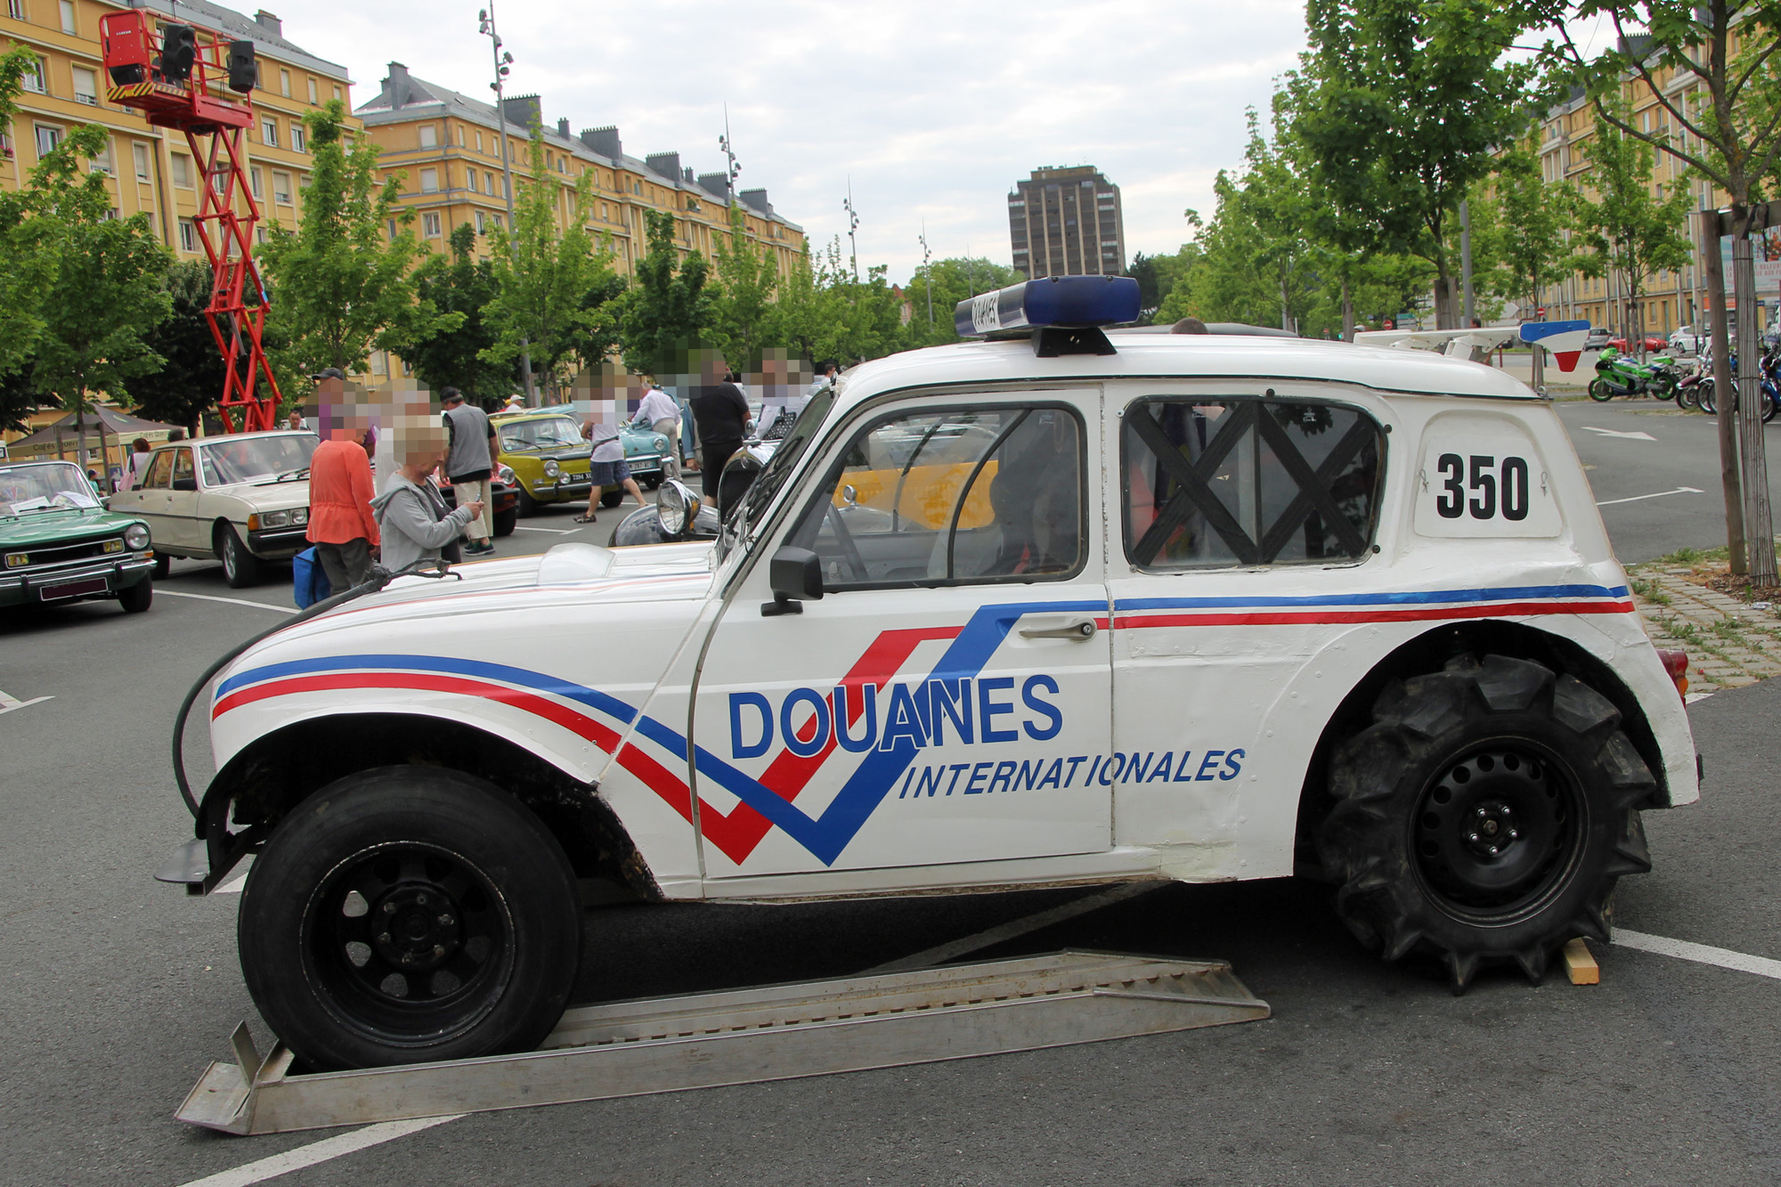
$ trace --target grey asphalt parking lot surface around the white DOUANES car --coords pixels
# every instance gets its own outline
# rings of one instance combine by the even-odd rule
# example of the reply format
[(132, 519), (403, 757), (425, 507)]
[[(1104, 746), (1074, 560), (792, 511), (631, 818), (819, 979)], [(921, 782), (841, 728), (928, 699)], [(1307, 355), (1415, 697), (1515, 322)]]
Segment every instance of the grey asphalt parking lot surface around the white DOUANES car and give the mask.
[[(1720, 542), (1708, 419), (1637, 405), (1560, 415), (1624, 560)], [(1617, 503), (1678, 485), (1703, 494)], [(500, 551), (604, 542), (620, 513), (591, 529), (568, 510), (527, 519)], [(262, 1182), (267, 1167), (226, 1173), (317, 1141), (369, 1141), (230, 1139), (169, 1116), (228, 1057), (237, 1019), (269, 1043), (235, 964), (239, 895), (187, 898), (150, 873), (191, 836), (167, 777), (178, 699), (290, 608), (274, 574), (230, 590), (216, 565), (176, 561), (144, 617), (110, 604), (0, 617), (0, 690), (20, 702), (0, 711), (0, 1183), (224, 1175), (221, 1187)], [(1765, 743), (1777, 715), (1777, 683), (1690, 708), (1704, 798), (1647, 813), (1656, 868), (1622, 880), (1621, 929), (1781, 959)], [(591, 909), (579, 998), (857, 973), (1086, 893)], [(1455, 998), (1435, 970), (1362, 954), (1329, 891), (1293, 880), (1167, 886), (960, 959), (1067, 946), (1229, 959), (1273, 1018), (470, 1116), (272, 1182), (1781, 1183), (1772, 978), (1615, 946), (1598, 950), (1599, 986), (1491, 971)]]

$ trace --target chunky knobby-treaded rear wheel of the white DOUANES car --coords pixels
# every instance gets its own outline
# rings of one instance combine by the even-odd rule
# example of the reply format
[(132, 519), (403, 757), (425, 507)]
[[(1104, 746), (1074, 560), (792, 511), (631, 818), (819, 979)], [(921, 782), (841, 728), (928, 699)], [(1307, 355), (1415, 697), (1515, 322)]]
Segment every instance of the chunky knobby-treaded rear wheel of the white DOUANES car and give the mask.
[(1651, 868), (1635, 806), (1656, 786), (1619, 725), (1594, 688), (1509, 656), (1387, 684), (1330, 763), (1338, 914), (1387, 961), (1434, 954), (1455, 993), (1480, 964), (1539, 982), (1567, 939), (1606, 943), (1614, 884)]

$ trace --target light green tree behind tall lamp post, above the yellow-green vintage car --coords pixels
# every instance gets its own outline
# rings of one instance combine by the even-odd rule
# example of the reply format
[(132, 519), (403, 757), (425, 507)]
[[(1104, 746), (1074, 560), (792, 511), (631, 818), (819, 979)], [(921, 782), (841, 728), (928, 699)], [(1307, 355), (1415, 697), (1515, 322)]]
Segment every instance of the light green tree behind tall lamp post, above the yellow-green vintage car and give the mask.
[(597, 364), (618, 346), (614, 310), (606, 305), (623, 282), (613, 271), (607, 244), (597, 246), (588, 232), (593, 171), (584, 171), (565, 194), (547, 168), (540, 125), (533, 125), (529, 148), (513, 230), (490, 233), (495, 299), (484, 317), (495, 340), (481, 356), (499, 365), (529, 351), (533, 371), (549, 390), (561, 392), (577, 365)]

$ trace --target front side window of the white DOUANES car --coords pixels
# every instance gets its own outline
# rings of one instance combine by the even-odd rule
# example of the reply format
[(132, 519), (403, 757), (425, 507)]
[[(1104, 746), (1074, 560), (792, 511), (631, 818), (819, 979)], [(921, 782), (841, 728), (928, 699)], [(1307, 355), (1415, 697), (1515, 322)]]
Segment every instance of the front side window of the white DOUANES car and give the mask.
[(1069, 577), (1083, 430), (1061, 406), (923, 408), (862, 428), (791, 533), (825, 588)]

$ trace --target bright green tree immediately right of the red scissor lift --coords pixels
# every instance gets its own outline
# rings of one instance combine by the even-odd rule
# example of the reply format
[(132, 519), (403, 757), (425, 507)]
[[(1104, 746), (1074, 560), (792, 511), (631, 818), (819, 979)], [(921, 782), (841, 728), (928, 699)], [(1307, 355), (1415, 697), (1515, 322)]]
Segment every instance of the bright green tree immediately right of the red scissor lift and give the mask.
[(322, 367), (363, 371), (372, 349), (399, 351), (461, 319), (415, 299), (413, 267), (426, 250), (397, 203), (406, 175), (378, 184), (378, 146), (347, 144), (346, 118), (340, 100), (305, 116), (315, 164), (303, 219), (296, 230), (267, 226), (260, 248), (287, 399), (306, 396)]

